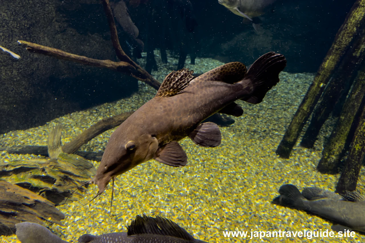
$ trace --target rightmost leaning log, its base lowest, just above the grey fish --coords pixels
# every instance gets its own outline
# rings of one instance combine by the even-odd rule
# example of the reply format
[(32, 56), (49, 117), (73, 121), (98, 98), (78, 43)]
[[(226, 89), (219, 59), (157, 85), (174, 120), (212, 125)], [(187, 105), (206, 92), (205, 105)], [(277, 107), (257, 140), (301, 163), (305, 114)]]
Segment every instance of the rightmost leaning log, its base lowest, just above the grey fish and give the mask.
[[(365, 78), (365, 76), (363, 76)], [(365, 109), (362, 108), (345, 167), (338, 180), (337, 192), (356, 190), (357, 179), (365, 155)]]

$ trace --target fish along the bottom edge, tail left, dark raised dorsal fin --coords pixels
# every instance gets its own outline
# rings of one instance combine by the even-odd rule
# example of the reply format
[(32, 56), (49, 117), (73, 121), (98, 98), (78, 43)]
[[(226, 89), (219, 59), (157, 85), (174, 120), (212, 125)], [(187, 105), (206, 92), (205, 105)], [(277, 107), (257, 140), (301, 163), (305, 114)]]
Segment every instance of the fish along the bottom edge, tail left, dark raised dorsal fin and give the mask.
[[(15, 225), (16, 236), (22, 243), (68, 243), (53, 234), (46, 227), (31, 222)], [(117, 232), (99, 236), (84, 234), (78, 238), (80, 243), (204, 243), (193, 238), (184, 228), (162, 217), (137, 215), (128, 226), (128, 232)], [(205, 242), (206, 243), (206, 242)]]

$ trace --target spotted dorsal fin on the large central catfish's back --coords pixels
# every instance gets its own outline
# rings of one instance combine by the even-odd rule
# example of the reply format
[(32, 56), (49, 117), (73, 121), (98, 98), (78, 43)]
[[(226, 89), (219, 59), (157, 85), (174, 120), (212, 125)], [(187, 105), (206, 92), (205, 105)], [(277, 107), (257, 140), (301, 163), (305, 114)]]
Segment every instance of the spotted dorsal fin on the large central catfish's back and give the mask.
[(190, 81), (195, 78), (193, 72), (186, 68), (172, 71), (162, 82), (155, 97), (169, 97), (181, 93), (189, 85)]

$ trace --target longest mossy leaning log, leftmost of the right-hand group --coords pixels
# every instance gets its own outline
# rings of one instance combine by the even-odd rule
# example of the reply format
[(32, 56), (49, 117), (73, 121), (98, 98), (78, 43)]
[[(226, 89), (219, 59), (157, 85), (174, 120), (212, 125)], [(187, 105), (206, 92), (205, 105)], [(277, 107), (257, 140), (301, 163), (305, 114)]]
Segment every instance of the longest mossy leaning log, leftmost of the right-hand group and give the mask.
[(319, 97), (322, 95), (328, 81), (335, 70), (337, 70), (340, 61), (347, 50), (350, 49), (350, 46), (356, 39), (358, 33), (364, 28), (364, 12), (365, 0), (357, 0), (350, 12), (347, 14), (345, 22), (338, 30), (330, 50), (328, 50), (326, 57), (318, 69), (316, 77), (308, 89), (303, 101), (299, 105), (297, 112), (295, 113), (276, 150), (276, 154), (280, 157), (289, 158), (291, 150), (295, 145), (304, 124), (306, 124), (306, 121), (311, 115), (314, 106), (318, 102)]

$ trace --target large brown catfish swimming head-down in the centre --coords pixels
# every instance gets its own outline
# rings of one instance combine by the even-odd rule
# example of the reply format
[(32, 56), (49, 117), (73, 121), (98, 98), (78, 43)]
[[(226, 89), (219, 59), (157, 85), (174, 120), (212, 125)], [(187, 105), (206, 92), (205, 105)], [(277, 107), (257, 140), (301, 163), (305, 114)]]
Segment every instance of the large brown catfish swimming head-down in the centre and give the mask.
[[(155, 159), (170, 166), (184, 166), (187, 155), (178, 141), (189, 136), (204, 147), (219, 146), (217, 124), (201, 123), (216, 112), (241, 116), (241, 99), (257, 104), (279, 81), (286, 66), (284, 55), (269, 52), (258, 58), (246, 72), (240, 62), (219, 66), (194, 77), (193, 71), (173, 71), (162, 82), (157, 95), (110, 136), (95, 177), (99, 196), (117, 175)], [(112, 187), (112, 195), (114, 186)], [(94, 197), (94, 198), (95, 198)]]

